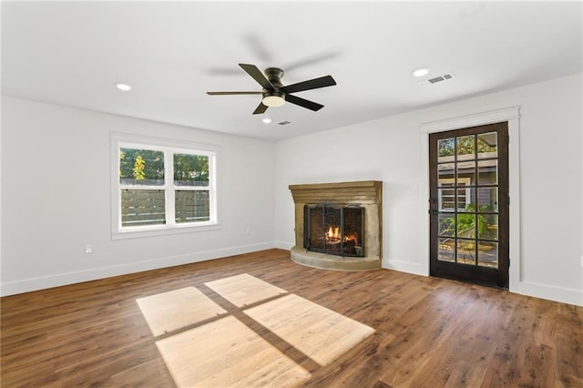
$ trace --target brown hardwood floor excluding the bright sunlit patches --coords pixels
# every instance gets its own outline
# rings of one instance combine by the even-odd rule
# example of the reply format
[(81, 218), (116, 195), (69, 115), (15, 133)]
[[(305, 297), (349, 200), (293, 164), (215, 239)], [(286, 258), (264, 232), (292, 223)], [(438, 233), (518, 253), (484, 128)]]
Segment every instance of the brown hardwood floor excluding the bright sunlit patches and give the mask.
[(320, 366), (251, 325), (311, 373), (307, 386), (583, 386), (581, 307), (395, 271), (316, 270), (286, 250), (2, 298), (1, 384), (175, 386), (136, 300), (196, 287), (221, 304), (204, 283), (244, 273), (374, 329)]

